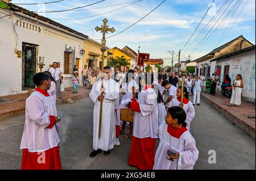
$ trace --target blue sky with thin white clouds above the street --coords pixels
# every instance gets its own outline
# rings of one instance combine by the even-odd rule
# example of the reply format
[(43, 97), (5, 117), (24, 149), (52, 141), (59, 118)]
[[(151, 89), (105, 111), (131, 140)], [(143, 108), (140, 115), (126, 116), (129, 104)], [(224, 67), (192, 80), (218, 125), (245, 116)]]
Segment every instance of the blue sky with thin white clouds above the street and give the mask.
[[(49, 1), (54, 0), (13, 0), (12, 2), (36, 3)], [(39, 11), (65, 10), (72, 9), (74, 7), (89, 5), (90, 3), (94, 3), (97, 1), (100, 0), (65, 0), (59, 3), (47, 4), (45, 6), (19, 6), (22, 6), (26, 9)], [(118, 33), (129, 27), (131, 24), (137, 22), (144, 15), (153, 10), (162, 2), (159, 0), (142, 0), (134, 3), (133, 5), (130, 5), (131, 3), (127, 3), (134, 1), (136, 0), (106, 0), (101, 3), (97, 3), (96, 5), (80, 9), (79, 11), (39, 14), (47, 16), (51, 19), (55, 18), (53, 20), (56, 20), (57, 22), (62, 23), (65, 26), (71, 27), (79, 32), (82, 32), (88, 35), (91, 39), (97, 40), (101, 39), (102, 35), (99, 32), (96, 32), (94, 28), (102, 24), (102, 19), (107, 18), (109, 20), (109, 26), (115, 28), (115, 32), (113, 33), (114, 35), (115, 33)], [(203, 18), (203, 15), (207, 11), (209, 3), (211, 3), (212, 0), (167, 0), (161, 6), (159, 6), (158, 9), (153, 11), (150, 15), (144, 18), (141, 22), (137, 23), (134, 27), (131, 27), (129, 30), (122, 32), (117, 36), (107, 39), (107, 46), (110, 48), (123, 48), (125, 47), (125, 45), (127, 45), (135, 51), (138, 50), (138, 46), (141, 46), (141, 52), (150, 53), (151, 58), (164, 58), (165, 65), (170, 65), (171, 58), (169, 57), (171, 57), (171, 55), (167, 53), (167, 50), (174, 50), (174, 52), (177, 54), (179, 52), (179, 49), (183, 49), (181, 51), (181, 60), (185, 60), (185, 57), (188, 57), (189, 54), (191, 55), (191, 59), (195, 60), (196, 58), (209, 53), (212, 49), (219, 47), (220, 45), (225, 44), (226, 42), (240, 35), (243, 35), (247, 40), (255, 44), (255, 0), (248, 0), (248, 2), (247, 0), (227, 0), (227, 3), (224, 7), (228, 7), (230, 3), (228, 9), (226, 11), (224, 11), (224, 9), (220, 11), (220, 14), (214, 20), (213, 15), (216, 14), (217, 10), (220, 9), (225, 1), (226, 0), (214, 1), (212, 8), (209, 10), (209, 13), (205, 16), (203, 22), (195, 32), (195, 35), (192, 37), (191, 41), (189, 41), (188, 45), (184, 49), (183, 47), (185, 43), (187, 43), (189, 37), (192, 35), (193, 31), (199, 24), (201, 18)], [(120, 3), (126, 4), (117, 5)], [(98, 7), (110, 5), (117, 6), (97, 9)], [(110, 12), (108, 14), (98, 15), (91, 18), (61, 20), (97, 15), (121, 8), (126, 5), (130, 6)], [(229, 11), (233, 6), (238, 7), (237, 10)], [(243, 11), (241, 12), (242, 9)], [(218, 20), (218, 17), (220, 17), (222, 13), (223, 15)], [(239, 14), (240, 16), (238, 16)], [(199, 35), (199, 33), (212, 18), (214, 20), (213, 23), (210, 23), (210, 26), (205, 28), (205, 33), (203, 34), (203, 36), (201, 36), (201, 39), (198, 39), (189, 47), (195, 37)], [(230, 27), (232, 28), (230, 29)], [(207, 34), (210, 28), (212, 28), (212, 31), (210, 31), (208, 36), (203, 39), (203, 37)], [(107, 35), (107, 37), (108, 36), (110, 36), (110, 34)], [(200, 42), (201, 44), (199, 44)], [(175, 62), (177, 62), (176, 57)]]

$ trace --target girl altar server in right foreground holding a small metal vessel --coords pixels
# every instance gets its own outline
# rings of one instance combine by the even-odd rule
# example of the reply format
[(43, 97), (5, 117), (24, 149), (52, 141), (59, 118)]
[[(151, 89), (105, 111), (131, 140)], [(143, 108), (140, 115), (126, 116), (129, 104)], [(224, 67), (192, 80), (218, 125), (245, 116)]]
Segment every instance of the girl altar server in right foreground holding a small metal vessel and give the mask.
[(199, 151), (188, 132), (186, 114), (181, 107), (167, 110), (166, 124), (159, 127), (159, 146), (155, 154), (154, 170), (192, 170)]

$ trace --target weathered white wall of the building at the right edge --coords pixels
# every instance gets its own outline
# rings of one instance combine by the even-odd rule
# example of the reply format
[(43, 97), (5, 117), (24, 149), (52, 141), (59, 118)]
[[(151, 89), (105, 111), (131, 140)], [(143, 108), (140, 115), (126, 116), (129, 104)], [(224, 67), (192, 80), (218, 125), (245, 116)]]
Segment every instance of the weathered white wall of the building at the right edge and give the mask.
[[(238, 60), (236, 62), (236, 60)], [(236, 56), (224, 58), (223, 60), (215, 61), (216, 65), (221, 65), (221, 82), (223, 81), (224, 66), (230, 65), (229, 77), (232, 82), (236, 79), (237, 74), (241, 74), (244, 87), (242, 89), (242, 97), (250, 102), (255, 101), (255, 50), (241, 53)], [(235, 62), (235, 63), (234, 63)], [(254, 102), (255, 103), (255, 102)]]

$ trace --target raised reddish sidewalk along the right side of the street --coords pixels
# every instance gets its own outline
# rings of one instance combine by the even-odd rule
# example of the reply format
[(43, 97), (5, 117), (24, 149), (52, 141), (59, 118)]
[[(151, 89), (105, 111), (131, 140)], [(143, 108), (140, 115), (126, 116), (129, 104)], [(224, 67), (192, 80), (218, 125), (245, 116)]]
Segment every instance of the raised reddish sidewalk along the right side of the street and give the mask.
[(216, 91), (215, 96), (201, 93), (201, 98), (212, 104), (224, 116), (255, 139), (255, 104), (242, 102), (240, 106), (229, 107), (230, 99), (221, 96), (219, 91)]

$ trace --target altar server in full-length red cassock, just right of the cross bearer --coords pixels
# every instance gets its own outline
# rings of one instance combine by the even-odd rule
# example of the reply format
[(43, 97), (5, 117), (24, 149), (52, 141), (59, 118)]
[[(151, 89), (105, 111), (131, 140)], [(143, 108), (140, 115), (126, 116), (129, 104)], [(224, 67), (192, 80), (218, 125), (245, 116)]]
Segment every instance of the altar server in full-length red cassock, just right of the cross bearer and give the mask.
[(158, 103), (152, 89), (154, 77), (147, 73), (142, 78), (142, 90), (138, 100), (133, 98), (131, 110), (134, 114), (133, 138), (129, 155), (129, 165), (150, 170), (154, 165), (155, 143), (158, 138)]

